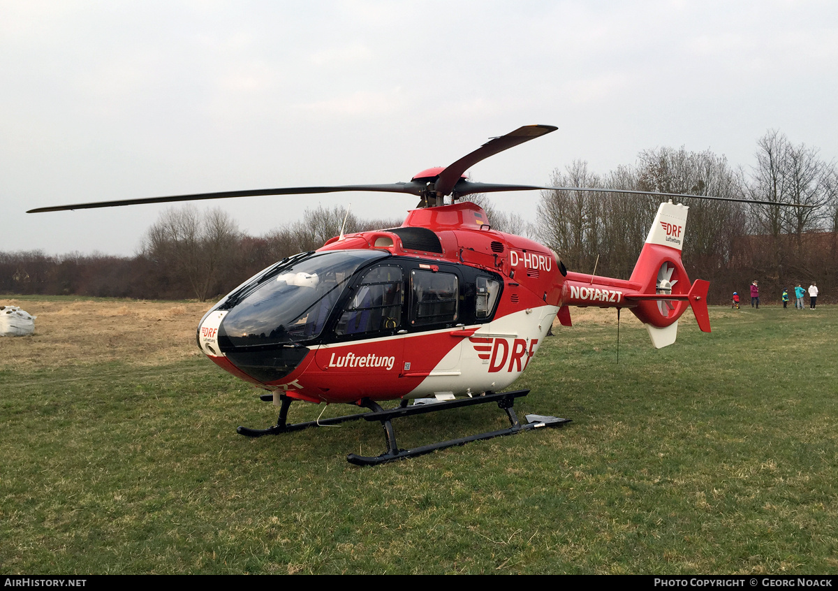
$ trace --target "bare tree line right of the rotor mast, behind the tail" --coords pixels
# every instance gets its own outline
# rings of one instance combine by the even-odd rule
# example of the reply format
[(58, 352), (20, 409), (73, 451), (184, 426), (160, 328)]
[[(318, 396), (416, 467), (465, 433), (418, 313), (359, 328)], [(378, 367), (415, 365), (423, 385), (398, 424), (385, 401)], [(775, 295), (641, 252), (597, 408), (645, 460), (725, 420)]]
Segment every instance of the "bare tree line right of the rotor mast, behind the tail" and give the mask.
[[(818, 282), (827, 301), (838, 286), (838, 172), (818, 150), (794, 145), (782, 133), (760, 138), (750, 171), (711, 151), (656, 148), (633, 167), (603, 176), (587, 163), (556, 171), (553, 184), (710, 195), (800, 206), (680, 200), (690, 207), (682, 253), (690, 277), (711, 282), (711, 303), (730, 301), (759, 281), (768, 301), (784, 288)], [(537, 236), (579, 272), (629, 277), (660, 198), (551, 191), (542, 194)], [(598, 262), (597, 262), (598, 257)]]

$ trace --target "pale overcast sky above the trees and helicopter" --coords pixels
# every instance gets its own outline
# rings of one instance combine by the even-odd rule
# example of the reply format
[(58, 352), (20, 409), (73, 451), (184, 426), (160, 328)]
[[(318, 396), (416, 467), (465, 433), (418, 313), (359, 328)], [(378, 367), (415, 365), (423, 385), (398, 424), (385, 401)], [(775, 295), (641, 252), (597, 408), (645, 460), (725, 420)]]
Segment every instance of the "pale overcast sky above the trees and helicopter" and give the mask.
[[(132, 255), (167, 205), (47, 205), (394, 183), (489, 137), (558, 131), (473, 180), (604, 174), (660, 146), (747, 170), (758, 137), (838, 157), (838, 3), (0, 0), (0, 251)], [(539, 195), (495, 194), (535, 220)], [(308, 207), (403, 217), (415, 198), (215, 200), (263, 234)]]

